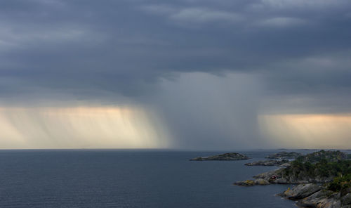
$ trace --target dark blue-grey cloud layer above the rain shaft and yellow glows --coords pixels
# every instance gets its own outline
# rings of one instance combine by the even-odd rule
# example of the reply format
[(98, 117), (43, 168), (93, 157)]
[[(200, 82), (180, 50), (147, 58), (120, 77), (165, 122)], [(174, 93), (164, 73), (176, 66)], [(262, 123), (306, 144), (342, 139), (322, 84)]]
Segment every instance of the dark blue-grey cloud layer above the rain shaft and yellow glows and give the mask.
[(1, 80), (19, 83), (1, 82), (2, 96), (34, 86), (135, 96), (173, 72), (258, 71), (283, 93), (350, 88), (350, 63), (303, 63), (350, 57), (349, 1), (0, 4)]

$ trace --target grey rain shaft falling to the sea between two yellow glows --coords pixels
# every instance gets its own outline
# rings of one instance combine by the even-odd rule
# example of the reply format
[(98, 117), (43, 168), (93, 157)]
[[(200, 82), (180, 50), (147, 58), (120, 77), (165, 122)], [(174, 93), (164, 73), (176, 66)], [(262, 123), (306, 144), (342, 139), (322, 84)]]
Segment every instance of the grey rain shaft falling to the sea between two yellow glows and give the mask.
[(230, 149), (263, 147), (256, 131), (262, 84), (256, 76), (186, 73), (164, 80), (151, 97), (170, 134), (173, 148)]

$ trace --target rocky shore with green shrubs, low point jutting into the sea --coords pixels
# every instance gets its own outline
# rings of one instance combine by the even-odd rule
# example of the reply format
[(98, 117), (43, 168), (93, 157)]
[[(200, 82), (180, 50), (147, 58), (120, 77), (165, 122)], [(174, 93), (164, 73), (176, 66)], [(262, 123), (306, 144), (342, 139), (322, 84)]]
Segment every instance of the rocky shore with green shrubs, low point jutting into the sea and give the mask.
[[(281, 153), (276, 155), (282, 155)], [(350, 155), (339, 150), (320, 150), (300, 155), (289, 163), (288, 167), (258, 174), (253, 176), (253, 180), (237, 181), (234, 185), (296, 184), (279, 195), (289, 200), (297, 200), (299, 207), (351, 207)]]

